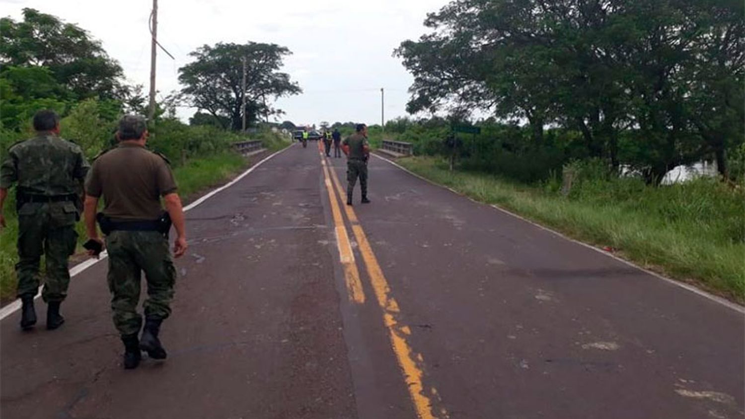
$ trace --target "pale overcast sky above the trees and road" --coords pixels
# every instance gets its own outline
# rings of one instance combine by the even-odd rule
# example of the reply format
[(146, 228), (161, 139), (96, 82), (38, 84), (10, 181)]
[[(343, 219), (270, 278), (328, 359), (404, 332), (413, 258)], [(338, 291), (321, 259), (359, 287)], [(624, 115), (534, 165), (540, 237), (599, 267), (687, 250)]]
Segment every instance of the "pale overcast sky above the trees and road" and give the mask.
[[(379, 123), (406, 115), (412, 77), (392, 57), (405, 39), (417, 39), (426, 14), (447, 0), (159, 0), (158, 38), (176, 60), (159, 52), (159, 95), (179, 89), (178, 68), (188, 53), (216, 42), (273, 42), (290, 48), (284, 71), (303, 89), (276, 106), (295, 124), (320, 121)], [(0, 15), (21, 19), (24, 7), (76, 23), (103, 42), (130, 83), (150, 77), (148, 16), (152, 0), (0, 0)], [(187, 119), (195, 109), (180, 109)]]

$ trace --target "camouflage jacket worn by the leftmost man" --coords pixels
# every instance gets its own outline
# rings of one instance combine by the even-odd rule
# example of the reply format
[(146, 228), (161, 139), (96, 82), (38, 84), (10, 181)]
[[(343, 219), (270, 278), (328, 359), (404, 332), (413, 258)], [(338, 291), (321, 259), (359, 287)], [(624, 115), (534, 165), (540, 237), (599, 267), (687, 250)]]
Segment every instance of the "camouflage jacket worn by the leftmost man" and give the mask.
[(80, 193), (90, 164), (77, 144), (51, 132), (14, 144), (0, 167), (0, 188), (18, 184), (18, 190), (34, 195)]

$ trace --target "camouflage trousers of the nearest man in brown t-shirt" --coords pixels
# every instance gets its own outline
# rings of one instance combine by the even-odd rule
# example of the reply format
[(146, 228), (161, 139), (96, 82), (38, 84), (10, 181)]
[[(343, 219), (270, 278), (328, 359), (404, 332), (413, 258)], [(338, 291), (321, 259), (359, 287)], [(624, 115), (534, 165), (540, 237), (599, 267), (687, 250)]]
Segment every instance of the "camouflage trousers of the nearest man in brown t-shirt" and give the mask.
[(167, 318), (176, 281), (168, 239), (157, 231), (112, 231), (106, 247), (112, 318), (119, 333), (131, 335), (142, 327), (142, 316), (137, 313), (142, 272), (148, 282), (145, 317)]

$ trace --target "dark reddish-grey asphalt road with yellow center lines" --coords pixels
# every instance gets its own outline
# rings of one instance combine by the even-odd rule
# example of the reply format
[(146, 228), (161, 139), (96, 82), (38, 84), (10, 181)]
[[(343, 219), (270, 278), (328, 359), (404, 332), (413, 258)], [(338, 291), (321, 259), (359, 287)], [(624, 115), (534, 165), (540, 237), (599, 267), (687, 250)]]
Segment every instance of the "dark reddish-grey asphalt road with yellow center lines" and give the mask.
[(2, 319), (0, 417), (744, 417), (741, 310), (381, 159), (348, 208), (314, 145), (188, 211), (165, 362), (121, 368), (105, 261)]

